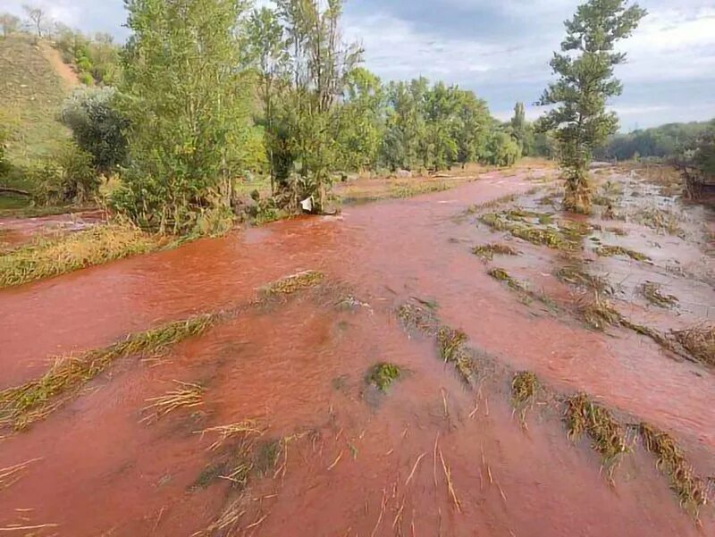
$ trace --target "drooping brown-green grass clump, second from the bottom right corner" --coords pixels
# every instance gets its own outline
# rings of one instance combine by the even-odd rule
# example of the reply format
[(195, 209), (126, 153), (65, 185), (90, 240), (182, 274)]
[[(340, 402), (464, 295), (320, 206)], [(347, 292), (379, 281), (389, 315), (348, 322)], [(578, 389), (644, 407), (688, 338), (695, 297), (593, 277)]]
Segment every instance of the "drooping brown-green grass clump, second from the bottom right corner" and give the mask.
[(576, 441), (588, 434), (592, 448), (601, 455), (611, 476), (618, 456), (628, 451), (623, 427), (608, 409), (593, 403), (585, 393), (568, 398), (566, 405), (568, 438)]

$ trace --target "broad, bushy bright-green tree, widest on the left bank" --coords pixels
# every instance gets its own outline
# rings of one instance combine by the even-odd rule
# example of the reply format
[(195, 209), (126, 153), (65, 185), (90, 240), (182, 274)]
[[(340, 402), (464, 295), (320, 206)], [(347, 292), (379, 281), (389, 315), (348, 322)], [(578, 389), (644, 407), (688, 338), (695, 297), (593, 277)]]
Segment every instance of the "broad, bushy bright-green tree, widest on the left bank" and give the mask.
[(159, 231), (225, 222), (248, 136), (240, 0), (127, 0), (129, 164), (114, 206)]

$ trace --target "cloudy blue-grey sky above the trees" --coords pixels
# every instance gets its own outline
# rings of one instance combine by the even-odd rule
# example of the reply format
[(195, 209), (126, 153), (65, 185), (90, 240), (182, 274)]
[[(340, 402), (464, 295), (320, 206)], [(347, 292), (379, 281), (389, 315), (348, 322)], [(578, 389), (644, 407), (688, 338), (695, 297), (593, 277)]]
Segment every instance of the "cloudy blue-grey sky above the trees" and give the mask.
[[(4, 0), (21, 13), (31, 0)], [(59, 21), (118, 39), (122, 0), (35, 0)], [(424, 75), (475, 91), (507, 119), (531, 106), (551, 80), (549, 61), (578, 0), (349, 0), (345, 34), (362, 42), (366, 66), (383, 80)], [(715, 3), (643, 0), (649, 15), (624, 49), (623, 96), (611, 105), (622, 130), (715, 117)]]

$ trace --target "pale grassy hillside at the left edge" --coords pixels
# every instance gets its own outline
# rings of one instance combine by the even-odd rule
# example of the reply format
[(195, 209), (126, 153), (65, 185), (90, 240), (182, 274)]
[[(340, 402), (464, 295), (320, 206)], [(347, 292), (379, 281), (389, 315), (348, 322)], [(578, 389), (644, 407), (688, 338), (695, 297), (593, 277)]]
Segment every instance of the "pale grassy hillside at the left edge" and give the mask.
[[(71, 85), (57, 74), (49, 52), (46, 43), (36, 45), (29, 36), (0, 38), (0, 122), (10, 132), (7, 155), (15, 168), (70, 138), (57, 117)], [(25, 186), (17, 169), (0, 184)]]

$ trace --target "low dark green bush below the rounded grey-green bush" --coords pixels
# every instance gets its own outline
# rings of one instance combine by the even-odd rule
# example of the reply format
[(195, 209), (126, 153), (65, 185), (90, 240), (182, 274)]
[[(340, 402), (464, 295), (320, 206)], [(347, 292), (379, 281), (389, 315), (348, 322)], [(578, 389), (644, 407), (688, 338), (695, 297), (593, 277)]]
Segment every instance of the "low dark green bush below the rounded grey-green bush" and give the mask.
[(28, 171), (35, 184), (39, 205), (85, 203), (97, 195), (101, 181), (92, 165), (92, 155), (67, 144)]

